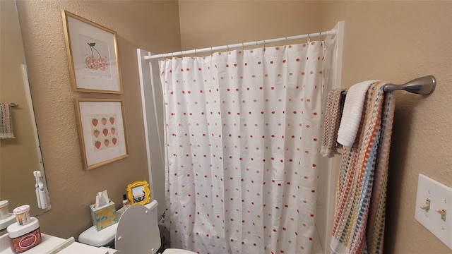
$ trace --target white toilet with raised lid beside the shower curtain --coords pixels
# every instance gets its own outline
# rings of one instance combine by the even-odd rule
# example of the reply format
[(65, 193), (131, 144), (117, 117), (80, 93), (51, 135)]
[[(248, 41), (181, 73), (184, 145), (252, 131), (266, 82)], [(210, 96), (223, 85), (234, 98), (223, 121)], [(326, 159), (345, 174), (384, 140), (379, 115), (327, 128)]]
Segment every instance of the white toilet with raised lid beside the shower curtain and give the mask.
[[(78, 236), (78, 241), (101, 247), (107, 246), (114, 240), (114, 250), (108, 249), (109, 254), (156, 254), (161, 245), (157, 224), (157, 205), (156, 200), (146, 205), (131, 205), (121, 214), (117, 224), (101, 231), (97, 231), (92, 226)], [(162, 254), (195, 253), (189, 250), (167, 248)]]

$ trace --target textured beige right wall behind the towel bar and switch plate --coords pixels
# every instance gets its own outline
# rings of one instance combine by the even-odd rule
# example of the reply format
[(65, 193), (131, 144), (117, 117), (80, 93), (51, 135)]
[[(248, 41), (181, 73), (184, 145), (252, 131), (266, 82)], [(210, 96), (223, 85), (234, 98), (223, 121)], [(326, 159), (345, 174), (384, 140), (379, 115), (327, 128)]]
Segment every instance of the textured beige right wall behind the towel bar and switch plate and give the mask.
[(344, 87), (434, 75), (429, 97), (396, 92), (385, 253), (451, 253), (415, 220), (418, 174), (452, 186), (452, 2), (323, 2), (323, 28), (345, 20)]

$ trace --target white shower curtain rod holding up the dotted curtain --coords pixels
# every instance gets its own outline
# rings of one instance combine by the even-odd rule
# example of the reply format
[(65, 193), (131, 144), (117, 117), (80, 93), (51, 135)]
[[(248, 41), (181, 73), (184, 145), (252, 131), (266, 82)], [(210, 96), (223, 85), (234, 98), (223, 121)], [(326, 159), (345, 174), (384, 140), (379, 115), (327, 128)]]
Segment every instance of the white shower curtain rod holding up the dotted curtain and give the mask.
[(155, 54), (150, 56), (144, 56), (145, 60), (150, 59), (157, 59), (157, 58), (163, 58), (163, 57), (173, 57), (173, 56), (181, 56), (184, 54), (196, 54), (196, 53), (204, 53), (204, 52), (213, 52), (217, 50), (222, 49), (232, 49), (232, 48), (238, 48), (238, 47), (248, 47), (248, 46), (256, 46), (259, 44), (266, 44), (266, 43), (273, 43), (273, 42), (284, 42), (287, 40), (299, 40), (299, 39), (305, 39), (305, 38), (311, 38), (311, 37), (319, 37), (319, 36), (328, 36), (328, 35), (335, 35), (336, 31), (329, 30), (326, 32), (316, 32), (312, 34), (306, 34), (306, 35), (295, 35), (295, 36), (288, 36), (288, 37), (281, 37), (276, 39), (270, 39), (270, 40), (259, 40), (254, 42), (242, 42), (237, 44), (229, 44), (229, 45), (223, 45), (223, 46), (217, 46), (217, 47), (207, 47), (203, 49), (191, 49), (191, 50), (183, 50), (180, 52), (172, 52), (172, 53), (163, 53), (163, 54)]

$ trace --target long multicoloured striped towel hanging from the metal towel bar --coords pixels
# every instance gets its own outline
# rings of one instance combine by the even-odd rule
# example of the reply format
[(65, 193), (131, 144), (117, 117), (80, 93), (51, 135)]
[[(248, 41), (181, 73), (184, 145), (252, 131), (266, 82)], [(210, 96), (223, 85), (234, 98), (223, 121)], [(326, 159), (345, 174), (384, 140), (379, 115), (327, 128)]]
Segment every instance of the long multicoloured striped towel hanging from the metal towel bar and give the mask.
[(343, 147), (336, 191), (332, 253), (383, 253), (386, 183), (394, 104), (385, 83), (369, 87), (357, 142)]

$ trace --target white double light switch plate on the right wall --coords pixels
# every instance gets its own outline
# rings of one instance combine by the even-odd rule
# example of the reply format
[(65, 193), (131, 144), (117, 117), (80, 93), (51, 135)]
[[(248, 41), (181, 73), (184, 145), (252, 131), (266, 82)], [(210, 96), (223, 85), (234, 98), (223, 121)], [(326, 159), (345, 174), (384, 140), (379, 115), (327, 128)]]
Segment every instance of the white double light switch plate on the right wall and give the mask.
[[(430, 200), (430, 209), (421, 207)], [(446, 221), (438, 211), (446, 210)], [(419, 174), (415, 219), (452, 249), (452, 188)]]

